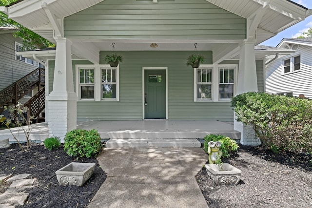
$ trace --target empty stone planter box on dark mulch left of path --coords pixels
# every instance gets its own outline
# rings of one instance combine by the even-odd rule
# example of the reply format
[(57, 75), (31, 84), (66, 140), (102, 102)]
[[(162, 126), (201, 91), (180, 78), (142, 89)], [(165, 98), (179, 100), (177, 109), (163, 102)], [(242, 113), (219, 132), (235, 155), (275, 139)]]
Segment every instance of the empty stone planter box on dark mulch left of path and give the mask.
[(55, 173), (60, 185), (81, 187), (91, 177), (95, 166), (95, 163), (70, 163)]

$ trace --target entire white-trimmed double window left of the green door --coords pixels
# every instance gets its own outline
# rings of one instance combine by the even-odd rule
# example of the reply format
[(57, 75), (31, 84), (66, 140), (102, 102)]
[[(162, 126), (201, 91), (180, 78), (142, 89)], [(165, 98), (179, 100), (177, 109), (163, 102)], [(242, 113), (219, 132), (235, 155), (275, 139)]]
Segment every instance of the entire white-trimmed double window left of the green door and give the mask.
[(76, 92), (81, 101), (119, 101), (119, 67), (76, 65)]

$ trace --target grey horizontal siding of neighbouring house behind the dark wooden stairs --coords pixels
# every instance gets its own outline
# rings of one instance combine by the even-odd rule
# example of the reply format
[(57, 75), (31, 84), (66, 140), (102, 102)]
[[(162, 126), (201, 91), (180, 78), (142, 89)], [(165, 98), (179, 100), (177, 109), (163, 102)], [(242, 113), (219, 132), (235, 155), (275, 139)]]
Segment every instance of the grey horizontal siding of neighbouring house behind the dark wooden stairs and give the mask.
[(22, 43), (20, 38), (14, 38), (12, 34), (0, 34), (0, 39), (0, 90), (3, 90), (37, 67), (15, 60), (15, 41)]

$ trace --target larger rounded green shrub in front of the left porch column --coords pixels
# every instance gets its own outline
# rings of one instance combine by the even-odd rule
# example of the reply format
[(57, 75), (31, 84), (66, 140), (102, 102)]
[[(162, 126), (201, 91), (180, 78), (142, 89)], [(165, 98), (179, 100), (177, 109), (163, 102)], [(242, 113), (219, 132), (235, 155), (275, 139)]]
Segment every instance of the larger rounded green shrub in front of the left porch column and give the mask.
[(64, 151), (74, 157), (92, 157), (102, 148), (101, 138), (97, 130), (76, 129), (66, 133)]

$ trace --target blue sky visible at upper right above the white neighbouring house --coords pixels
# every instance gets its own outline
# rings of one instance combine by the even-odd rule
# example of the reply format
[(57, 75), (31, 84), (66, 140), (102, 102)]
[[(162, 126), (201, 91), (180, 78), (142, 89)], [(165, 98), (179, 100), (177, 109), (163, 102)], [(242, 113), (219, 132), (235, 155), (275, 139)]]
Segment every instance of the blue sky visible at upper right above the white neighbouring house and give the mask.
[[(292, 0), (306, 8), (312, 9), (312, 0)], [(303, 32), (307, 32), (312, 27), (312, 15), (307, 17), (304, 21), (301, 21), (290, 28), (278, 33), (273, 38), (270, 38), (261, 43), (261, 45), (268, 45), (276, 47), (283, 38), (296, 38)]]

